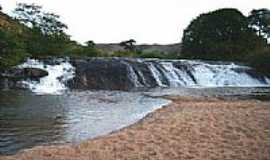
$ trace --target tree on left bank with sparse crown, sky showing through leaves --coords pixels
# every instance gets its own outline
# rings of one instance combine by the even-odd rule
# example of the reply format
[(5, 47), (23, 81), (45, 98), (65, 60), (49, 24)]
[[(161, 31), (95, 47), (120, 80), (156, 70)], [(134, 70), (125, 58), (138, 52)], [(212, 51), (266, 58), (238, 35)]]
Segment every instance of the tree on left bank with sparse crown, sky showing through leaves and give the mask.
[(70, 37), (65, 34), (67, 25), (62, 23), (60, 16), (42, 11), (35, 4), (19, 3), (14, 11), (15, 18), (31, 29), (25, 37), (27, 51), (35, 55), (59, 55), (65, 49)]

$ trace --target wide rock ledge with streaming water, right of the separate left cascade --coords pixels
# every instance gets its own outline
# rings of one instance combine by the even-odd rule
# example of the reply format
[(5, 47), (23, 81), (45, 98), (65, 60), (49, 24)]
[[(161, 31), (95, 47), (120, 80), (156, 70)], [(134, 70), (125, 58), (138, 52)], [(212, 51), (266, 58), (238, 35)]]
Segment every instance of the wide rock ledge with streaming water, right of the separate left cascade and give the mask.
[(92, 58), (71, 62), (72, 89), (133, 90), (154, 87), (264, 87), (270, 78), (243, 65), (187, 60)]

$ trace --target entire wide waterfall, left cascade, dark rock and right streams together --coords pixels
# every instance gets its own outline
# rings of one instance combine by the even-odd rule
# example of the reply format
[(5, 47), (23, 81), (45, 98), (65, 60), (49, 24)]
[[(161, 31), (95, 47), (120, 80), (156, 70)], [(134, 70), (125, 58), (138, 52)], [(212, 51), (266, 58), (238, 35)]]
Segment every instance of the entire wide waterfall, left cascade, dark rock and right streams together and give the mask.
[[(235, 63), (93, 58), (73, 60), (72, 64), (65, 60), (45, 63), (29, 59), (19, 67), (39, 68), (49, 73), (39, 81), (23, 81), (37, 94), (59, 94), (68, 87), (105, 90), (154, 87), (270, 87), (269, 77)], [(66, 83), (70, 79), (73, 81), (68, 83), (67, 87)]]

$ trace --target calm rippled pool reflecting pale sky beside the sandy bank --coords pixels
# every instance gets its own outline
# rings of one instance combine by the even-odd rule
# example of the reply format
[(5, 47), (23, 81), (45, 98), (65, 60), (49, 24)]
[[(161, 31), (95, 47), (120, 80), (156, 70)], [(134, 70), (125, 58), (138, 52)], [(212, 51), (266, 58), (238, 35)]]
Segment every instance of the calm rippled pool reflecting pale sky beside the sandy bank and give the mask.
[(61, 96), (0, 92), (0, 155), (104, 135), (167, 103), (138, 92), (70, 92)]

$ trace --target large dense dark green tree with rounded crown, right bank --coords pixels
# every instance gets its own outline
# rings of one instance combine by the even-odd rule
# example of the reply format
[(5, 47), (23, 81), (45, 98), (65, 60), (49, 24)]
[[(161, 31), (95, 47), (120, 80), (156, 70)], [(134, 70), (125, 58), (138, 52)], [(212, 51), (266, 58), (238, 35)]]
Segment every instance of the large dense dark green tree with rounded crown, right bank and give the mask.
[(237, 60), (264, 44), (236, 9), (201, 14), (184, 30), (182, 53), (188, 58)]

